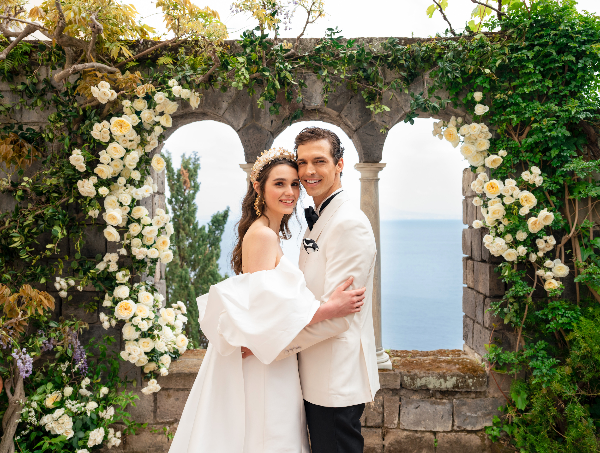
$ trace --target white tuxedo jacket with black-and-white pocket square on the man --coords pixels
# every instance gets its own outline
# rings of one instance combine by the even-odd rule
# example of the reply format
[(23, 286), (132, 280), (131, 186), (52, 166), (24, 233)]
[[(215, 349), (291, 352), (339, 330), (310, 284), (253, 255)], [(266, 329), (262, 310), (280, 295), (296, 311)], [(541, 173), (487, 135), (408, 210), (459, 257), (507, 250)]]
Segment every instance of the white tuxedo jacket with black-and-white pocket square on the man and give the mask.
[(307, 288), (317, 300), (326, 302), (351, 276), (350, 289), (366, 286), (366, 297), (359, 313), (305, 327), (277, 360), (298, 353), (302, 395), (310, 403), (345, 407), (373, 401), (379, 373), (371, 310), (377, 253), (371, 223), (342, 191), (323, 209), (313, 230), (307, 228), (304, 238), (314, 240), (319, 248), (308, 253), (301, 246), (299, 258)]

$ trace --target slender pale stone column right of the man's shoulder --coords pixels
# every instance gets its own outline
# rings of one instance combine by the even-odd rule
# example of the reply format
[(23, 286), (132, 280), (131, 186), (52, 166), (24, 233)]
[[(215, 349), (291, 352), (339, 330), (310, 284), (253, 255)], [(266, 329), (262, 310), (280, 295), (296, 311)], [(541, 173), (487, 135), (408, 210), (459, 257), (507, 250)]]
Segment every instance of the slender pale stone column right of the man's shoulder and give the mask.
[(361, 163), (354, 166), (361, 172), (361, 210), (367, 215), (375, 235), (377, 258), (373, 278), (373, 328), (375, 330), (375, 347), (377, 351), (377, 367), (392, 369), (388, 354), (383, 351), (381, 342), (381, 254), (379, 239), (379, 172), (386, 164), (379, 162)]

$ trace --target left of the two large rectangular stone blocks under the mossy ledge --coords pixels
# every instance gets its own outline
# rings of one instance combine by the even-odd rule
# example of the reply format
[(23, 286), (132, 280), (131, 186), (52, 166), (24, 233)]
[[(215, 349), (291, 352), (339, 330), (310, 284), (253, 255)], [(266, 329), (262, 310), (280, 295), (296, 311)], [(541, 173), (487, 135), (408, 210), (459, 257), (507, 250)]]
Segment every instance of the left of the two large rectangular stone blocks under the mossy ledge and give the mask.
[(404, 430), (452, 430), (452, 401), (403, 397), (400, 404), (400, 427)]

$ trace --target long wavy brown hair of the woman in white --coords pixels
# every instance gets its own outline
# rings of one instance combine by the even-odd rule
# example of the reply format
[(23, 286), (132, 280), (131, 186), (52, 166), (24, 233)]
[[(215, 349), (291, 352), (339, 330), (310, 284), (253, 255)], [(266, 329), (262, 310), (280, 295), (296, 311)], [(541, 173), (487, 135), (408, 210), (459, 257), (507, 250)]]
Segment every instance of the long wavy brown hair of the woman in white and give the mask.
[[(273, 168), (277, 167), (277, 165), (289, 165), (290, 167), (295, 168), (298, 171), (298, 164), (293, 161), (288, 161), (287, 159), (278, 159), (277, 161), (272, 161), (270, 164), (265, 165), (263, 169), (260, 171), (259, 177), (256, 178), (256, 181), (259, 183), (259, 190), (261, 194), (265, 193), (265, 185), (267, 180), (269, 179), (269, 174), (273, 170)], [(301, 186), (302, 190), (302, 186)], [(242, 241), (244, 240), (244, 235), (250, 228), (250, 225), (256, 221), (256, 210), (254, 210), (254, 200), (256, 200), (257, 192), (254, 190), (253, 185), (248, 187), (248, 191), (242, 201), (242, 216), (239, 219), (238, 223), (235, 225), (237, 228), (236, 239), (237, 243), (235, 247), (233, 247), (233, 252), (231, 256), (231, 268), (235, 272), (236, 275), (242, 273)], [(263, 198), (259, 198), (259, 210), (261, 213), (263, 212)], [(294, 206), (294, 210), (292, 214), (286, 214), (281, 219), (281, 225), (279, 226), (279, 236), (282, 239), (289, 239), (292, 237), (292, 231), (290, 231), (290, 227), (288, 225), (290, 218), (296, 213), (296, 206)]]

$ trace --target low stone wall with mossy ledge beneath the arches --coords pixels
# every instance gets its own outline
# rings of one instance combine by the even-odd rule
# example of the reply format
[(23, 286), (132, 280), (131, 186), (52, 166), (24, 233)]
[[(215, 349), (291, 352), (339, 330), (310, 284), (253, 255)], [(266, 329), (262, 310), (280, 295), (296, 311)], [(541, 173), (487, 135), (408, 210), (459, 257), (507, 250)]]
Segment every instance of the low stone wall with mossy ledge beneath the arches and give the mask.
[[(204, 349), (185, 352), (169, 376), (158, 378), (163, 388), (156, 394), (131, 389), (140, 400), (128, 410), (148, 427), (125, 436), (116, 452), (169, 450), (166, 433), (177, 430), (204, 354)], [(392, 351), (391, 357), (394, 369), (380, 370), (382, 388), (362, 414), (365, 453), (497, 451), (485, 439), (484, 427), (499, 415), (505, 398), (477, 361), (457, 349)]]

